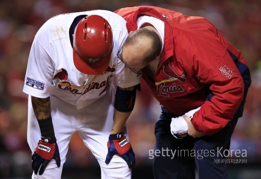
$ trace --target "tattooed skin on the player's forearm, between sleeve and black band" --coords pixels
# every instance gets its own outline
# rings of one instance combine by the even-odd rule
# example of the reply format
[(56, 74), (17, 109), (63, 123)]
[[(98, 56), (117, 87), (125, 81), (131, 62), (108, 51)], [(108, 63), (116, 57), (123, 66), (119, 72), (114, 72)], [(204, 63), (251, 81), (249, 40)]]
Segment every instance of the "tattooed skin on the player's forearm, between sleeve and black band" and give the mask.
[(51, 116), (50, 97), (38, 98), (31, 96), (31, 100), (37, 120), (46, 120)]

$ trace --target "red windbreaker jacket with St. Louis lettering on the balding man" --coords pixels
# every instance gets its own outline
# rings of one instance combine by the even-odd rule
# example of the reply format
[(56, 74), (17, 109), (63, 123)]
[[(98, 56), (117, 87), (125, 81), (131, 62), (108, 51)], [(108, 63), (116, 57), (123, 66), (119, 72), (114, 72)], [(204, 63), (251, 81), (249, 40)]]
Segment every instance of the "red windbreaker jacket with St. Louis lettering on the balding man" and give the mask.
[[(178, 115), (201, 106), (191, 123), (206, 135), (218, 132), (232, 120), (244, 96), (241, 74), (249, 70), (241, 52), (207, 19), (153, 6), (115, 12), (126, 20), (128, 32), (137, 30), (137, 18), (142, 15), (159, 18), (165, 24), (155, 81), (149, 81), (143, 72), (161, 105)], [(250, 74), (247, 81), (250, 85)], [(248, 87), (245, 84), (245, 95)]]

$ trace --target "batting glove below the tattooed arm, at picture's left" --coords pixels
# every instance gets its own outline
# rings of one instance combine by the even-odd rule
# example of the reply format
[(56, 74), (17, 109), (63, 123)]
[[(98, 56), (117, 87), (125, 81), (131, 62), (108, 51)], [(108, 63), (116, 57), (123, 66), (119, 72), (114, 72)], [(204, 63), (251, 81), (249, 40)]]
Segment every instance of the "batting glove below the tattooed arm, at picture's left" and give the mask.
[(32, 155), (32, 169), (34, 173), (37, 174), (39, 169), (39, 175), (44, 173), (52, 159), (56, 161), (57, 167), (60, 167), (61, 159), (56, 138), (41, 137)]

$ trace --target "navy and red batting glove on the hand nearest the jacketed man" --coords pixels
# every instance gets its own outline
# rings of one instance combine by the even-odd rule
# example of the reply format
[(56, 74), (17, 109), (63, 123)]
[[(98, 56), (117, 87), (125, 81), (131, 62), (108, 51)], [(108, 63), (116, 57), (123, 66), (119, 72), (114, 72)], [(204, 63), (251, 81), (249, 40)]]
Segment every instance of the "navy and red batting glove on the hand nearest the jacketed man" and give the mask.
[(107, 143), (108, 153), (106, 156), (105, 163), (111, 162), (113, 155), (120, 155), (123, 160), (128, 164), (129, 168), (133, 168), (135, 165), (135, 154), (133, 152), (132, 146), (123, 135), (123, 132), (118, 134), (111, 134)]

